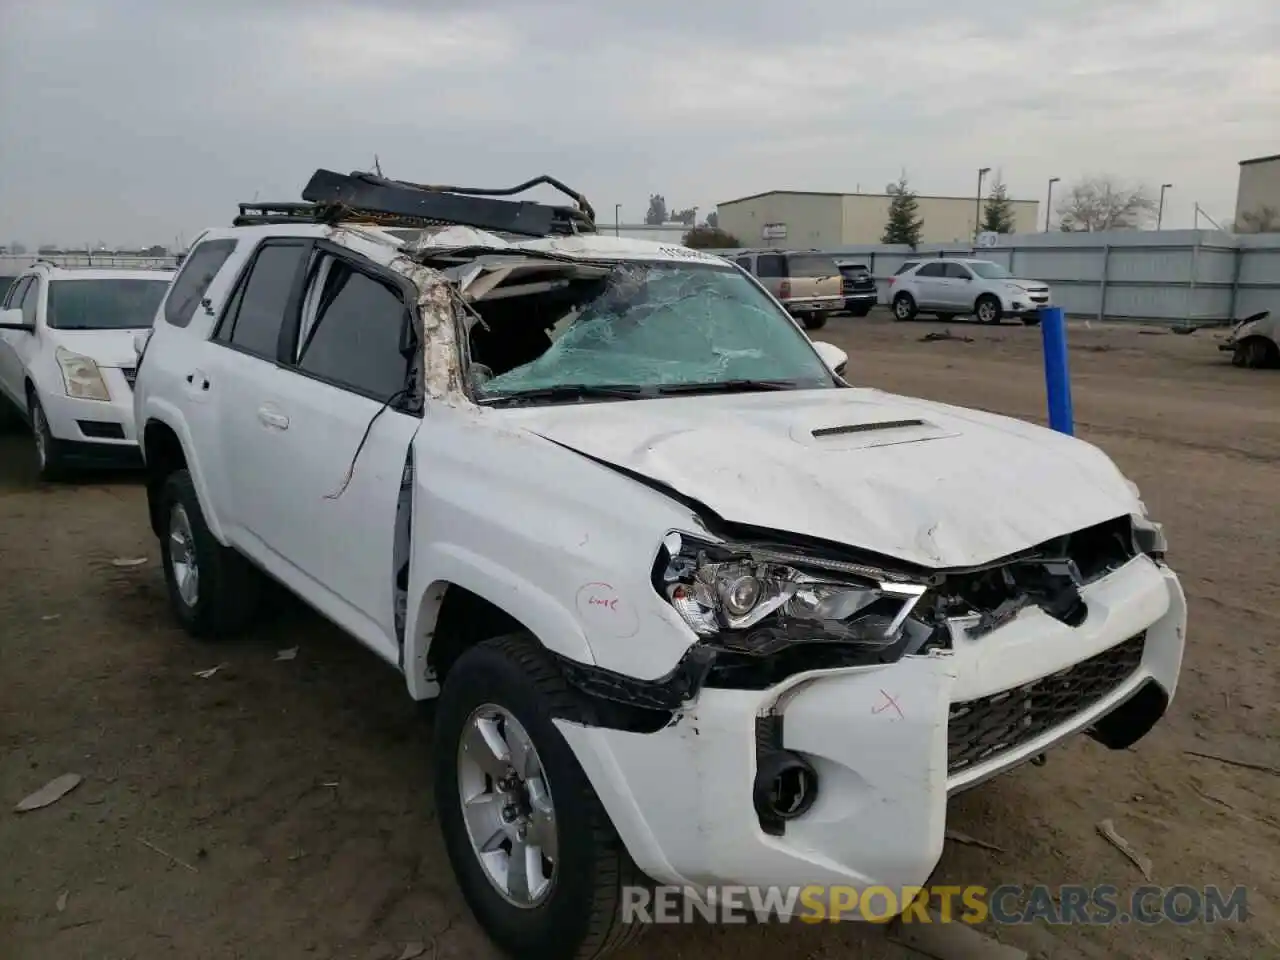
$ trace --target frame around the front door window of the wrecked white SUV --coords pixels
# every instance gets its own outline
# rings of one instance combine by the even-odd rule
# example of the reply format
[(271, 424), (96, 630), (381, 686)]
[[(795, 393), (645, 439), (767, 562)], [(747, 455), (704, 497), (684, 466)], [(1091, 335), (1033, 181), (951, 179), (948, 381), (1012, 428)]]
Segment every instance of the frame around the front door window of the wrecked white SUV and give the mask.
[[(402, 323), (401, 337), (403, 338), (406, 333), (411, 333), (412, 339), (415, 342), (415, 347), (410, 353), (410, 356), (406, 357), (406, 365), (404, 365), (406, 387), (408, 387), (410, 393), (407, 396), (397, 398), (390, 404), (390, 410), (394, 410), (399, 413), (407, 413), (410, 416), (421, 417), (424, 411), (422, 401), (426, 389), (425, 389), (425, 378), (422, 370), (422, 351), (421, 351), (421, 346), (424, 343), (424, 334), (422, 334), (422, 320), (417, 311), (417, 289), (402, 274), (398, 274), (394, 270), (390, 270), (383, 266), (381, 264), (378, 264), (370, 260), (369, 257), (362, 256), (361, 253), (357, 253), (352, 250), (347, 250), (346, 247), (342, 247), (330, 241), (325, 239), (315, 241), (312, 246), (312, 252), (320, 257), (324, 256), (332, 257), (333, 260), (338, 261), (339, 264), (343, 264), (355, 273), (364, 274), (375, 283), (380, 283), (384, 287), (388, 287), (393, 293), (396, 293), (396, 296), (399, 297), (401, 307), (404, 311), (404, 320), (407, 321)], [(312, 270), (319, 270), (323, 262), (324, 262), (323, 260), (319, 264), (311, 264), (310, 261), (307, 262), (306, 270), (303, 270), (305, 283), (310, 283), (312, 280), (311, 276)], [(319, 279), (319, 276), (316, 276), (316, 279)], [(291, 320), (292, 332), (289, 334), (287, 344), (288, 349), (283, 355), (284, 358), (280, 360), (279, 366), (282, 369), (288, 370), (289, 372), (297, 374), (298, 376), (303, 376), (307, 380), (315, 380), (316, 383), (326, 384), (328, 387), (343, 390), (344, 393), (352, 393), (357, 397), (364, 397), (365, 399), (370, 399), (374, 403), (385, 403), (387, 402), (385, 396), (375, 394), (355, 384), (346, 383), (344, 380), (337, 380), (330, 376), (316, 374), (311, 370), (305, 370), (301, 366), (302, 355), (306, 352), (306, 343), (298, 344), (298, 335), (301, 333), (302, 319), (303, 319), (302, 307), (306, 305), (305, 301), (307, 300), (306, 287), (303, 287), (301, 292), (297, 292), (297, 294), (300, 297), (300, 303), (298, 303), (300, 308), (297, 310), (296, 316), (293, 316)], [(307, 328), (307, 343), (311, 342), (311, 338), (315, 335), (315, 332), (319, 326), (320, 326), (319, 319), (311, 321), (310, 326)], [(282, 334), (283, 333), (284, 330), (282, 329)], [(283, 342), (282, 346), (284, 346)]]

